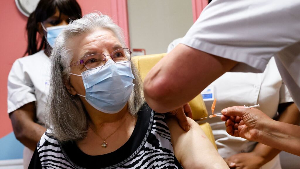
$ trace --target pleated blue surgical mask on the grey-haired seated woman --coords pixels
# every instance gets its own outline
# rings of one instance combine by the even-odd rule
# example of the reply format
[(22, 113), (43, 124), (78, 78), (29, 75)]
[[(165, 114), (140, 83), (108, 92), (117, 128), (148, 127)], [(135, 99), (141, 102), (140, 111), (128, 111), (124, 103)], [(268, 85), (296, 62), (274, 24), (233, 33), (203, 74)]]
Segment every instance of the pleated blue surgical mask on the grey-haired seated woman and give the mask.
[[(104, 113), (117, 113), (126, 105), (134, 84), (131, 63), (115, 63), (108, 60), (101, 68), (81, 73), (85, 87), (85, 100)], [(70, 73), (71, 75), (76, 75)]]

